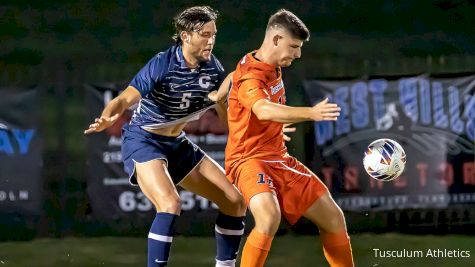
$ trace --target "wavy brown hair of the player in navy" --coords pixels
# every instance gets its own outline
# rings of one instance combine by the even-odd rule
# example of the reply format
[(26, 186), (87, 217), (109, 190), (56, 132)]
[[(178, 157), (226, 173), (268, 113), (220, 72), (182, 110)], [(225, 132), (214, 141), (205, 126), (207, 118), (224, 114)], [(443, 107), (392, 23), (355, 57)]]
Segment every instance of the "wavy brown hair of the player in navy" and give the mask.
[(177, 45), (180, 45), (180, 33), (182, 31), (199, 31), (203, 28), (204, 24), (210, 21), (216, 21), (217, 18), (218, 11), (209, 6), (194, 6), (187, 8), (173, 19), (173, 24), (175, 25), (173, 40), (175, 40)]

